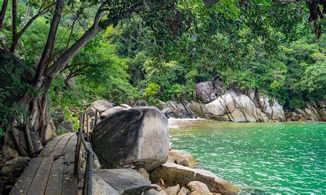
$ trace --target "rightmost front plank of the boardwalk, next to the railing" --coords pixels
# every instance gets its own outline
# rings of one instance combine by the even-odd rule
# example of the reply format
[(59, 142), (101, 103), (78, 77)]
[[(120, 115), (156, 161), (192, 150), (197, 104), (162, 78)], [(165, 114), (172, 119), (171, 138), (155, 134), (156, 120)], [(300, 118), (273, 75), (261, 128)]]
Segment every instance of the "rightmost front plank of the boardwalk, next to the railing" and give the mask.
[(78, 194), (78, 180), (77, 176), (74, 175), (74, 163), (70, 163), (69, 165), (65, 163), (62, 194)]

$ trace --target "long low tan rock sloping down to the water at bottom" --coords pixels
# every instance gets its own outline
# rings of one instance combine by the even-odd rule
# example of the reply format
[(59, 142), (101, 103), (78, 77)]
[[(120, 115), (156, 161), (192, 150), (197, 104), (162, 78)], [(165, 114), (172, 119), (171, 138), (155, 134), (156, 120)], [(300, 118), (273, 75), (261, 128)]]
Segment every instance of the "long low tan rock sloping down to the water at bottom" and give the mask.
[(224, 179), (220, 179), (210, 171), (187, 168), (175, 163), (165, 163), (155, 168), (155, 170), (151, 172), (150, 179), (153, 183), (159, 183), (160, 179), (163, 179), (167, 186), (200, 181), (207, 185), (210, 192), (221, 194), (239, 192), (238, 187), (235, 187)]

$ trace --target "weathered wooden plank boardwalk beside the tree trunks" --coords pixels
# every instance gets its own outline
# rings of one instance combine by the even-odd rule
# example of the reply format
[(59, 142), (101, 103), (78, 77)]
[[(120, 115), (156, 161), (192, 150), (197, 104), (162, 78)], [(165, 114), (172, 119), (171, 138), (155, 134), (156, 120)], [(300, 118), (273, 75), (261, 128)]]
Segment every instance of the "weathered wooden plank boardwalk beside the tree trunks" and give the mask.
[(52, 138), (33, 158), (10, 194), (78, 194), (74, 175), (76, 133)]

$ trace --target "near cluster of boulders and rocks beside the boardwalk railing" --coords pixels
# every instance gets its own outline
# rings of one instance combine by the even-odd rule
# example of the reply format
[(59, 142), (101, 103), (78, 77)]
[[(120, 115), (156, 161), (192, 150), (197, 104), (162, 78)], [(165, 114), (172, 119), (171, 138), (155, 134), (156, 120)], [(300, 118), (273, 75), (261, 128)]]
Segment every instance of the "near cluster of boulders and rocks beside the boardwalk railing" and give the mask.
[[(87, 108), (93, 124), (99, 100)], [(109, 114), (108, 114), (109, 113)], [(191, 154), (171, 150), (168, 120), (154, 107), (102, 109), (91, 134), (98, 166), (93, 194), (237, 194), (213, 172), (193, 168)]]

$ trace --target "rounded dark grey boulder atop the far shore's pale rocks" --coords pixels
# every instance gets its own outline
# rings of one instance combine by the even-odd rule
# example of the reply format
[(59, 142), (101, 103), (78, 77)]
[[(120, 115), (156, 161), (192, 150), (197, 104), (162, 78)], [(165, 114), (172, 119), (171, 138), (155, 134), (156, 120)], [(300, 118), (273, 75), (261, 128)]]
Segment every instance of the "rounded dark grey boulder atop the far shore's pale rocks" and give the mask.
[(196, 86), (196, 96), (198, 100), (204, 103), (215, 100), (216, 95), (213, 82), (199, 82)]

